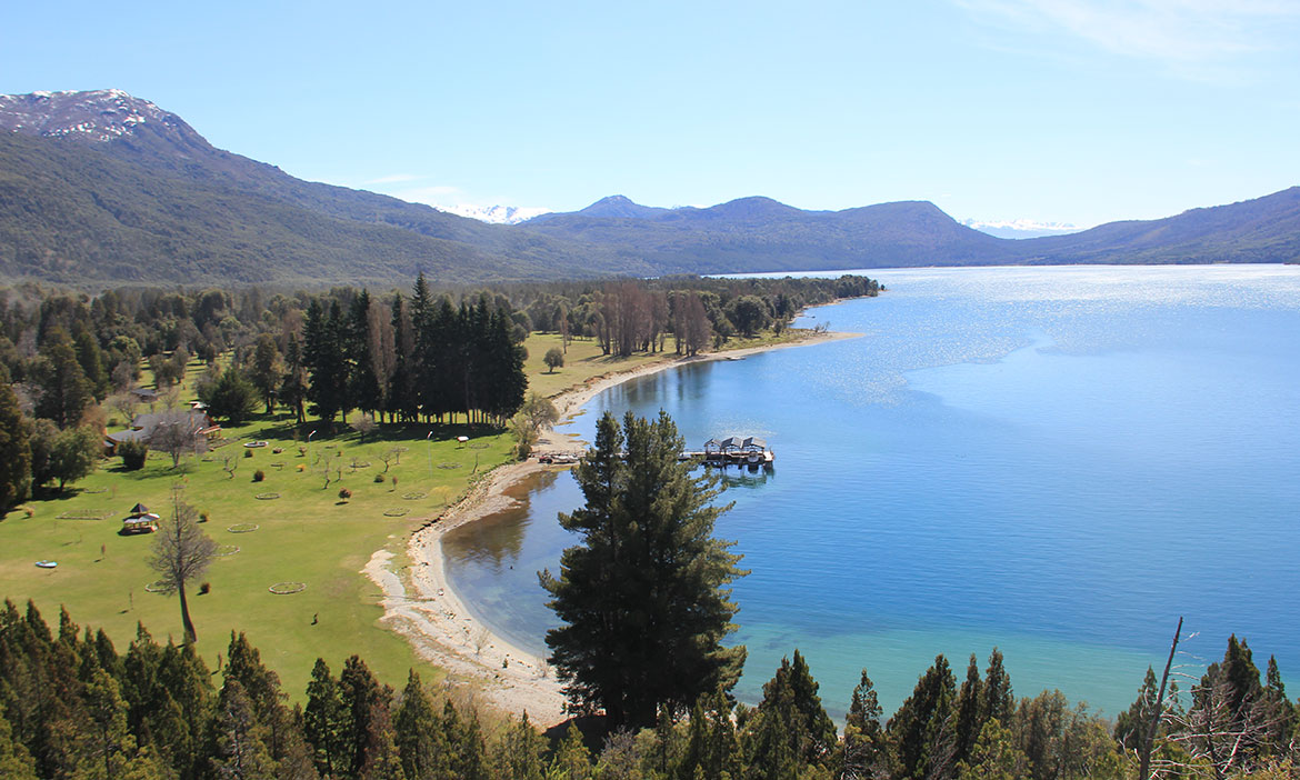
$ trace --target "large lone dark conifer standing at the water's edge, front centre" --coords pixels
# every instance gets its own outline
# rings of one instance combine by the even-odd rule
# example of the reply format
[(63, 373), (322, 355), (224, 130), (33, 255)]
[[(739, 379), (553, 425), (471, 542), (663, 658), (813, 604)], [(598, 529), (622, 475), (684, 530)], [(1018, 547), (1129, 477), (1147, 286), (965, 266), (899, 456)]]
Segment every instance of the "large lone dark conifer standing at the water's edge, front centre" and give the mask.
[(744, 573), (712, 537), (728, 507), (710, 506), (716, 490), (689, 476), (681, 450), (667, 413), (629, 413), (624, 429), (606, 413), (576, 471), (586, 506), (560, 515), (582, 543), (564, 551), (558, 578), (541, 575), (564, 623), (546, 642), (566, 693), (615, 725), (650, 725), (659, 705), (680, 711), (731, 689), (745, 659), (722, 646), (736, 614), (725, 585)]

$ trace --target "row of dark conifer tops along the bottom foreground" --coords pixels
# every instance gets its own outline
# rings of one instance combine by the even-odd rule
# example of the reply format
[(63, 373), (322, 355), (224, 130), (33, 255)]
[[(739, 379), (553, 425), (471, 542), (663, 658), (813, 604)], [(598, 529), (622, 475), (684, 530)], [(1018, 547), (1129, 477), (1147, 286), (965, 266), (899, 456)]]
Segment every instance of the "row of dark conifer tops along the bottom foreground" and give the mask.
[[(1148, 676), (1148, 682), (1150, 676)], [(1017, 699), (994, 649), (958, 684), (940, 655), (888, 720), (862, 679), (837, 728), (796, 651), (754, 707), (722, 689), (688, 716), (660, 710), (646, 728), (572, 728), (543, 737), (528, 715), (458, 705), (411, 672), (396, 690), (359, 656), (312, 670), (290, 705), (247, 637), (231, 633), (218, 668), (190, 645), (143, 627), (125, 653), (66, 611), (51, 627), (34, 604), (0, 612), (0, 776), (207, 780), (694, 780), (1132, 777), (1134, 723), (1153, 705), (1144, 682), (1114, 723), (1060, 692)], [(1167, 702), (1156, 740), (1165, 777), (1286, 777), (1296, 758), (1295, 707), (1275, 664), (1261, 680), (1232, 637), (1182, 703)], [(559, 731), (559, 729), (556, 729)], [(1271, 772), (1271, 774), (1269, 774)]]

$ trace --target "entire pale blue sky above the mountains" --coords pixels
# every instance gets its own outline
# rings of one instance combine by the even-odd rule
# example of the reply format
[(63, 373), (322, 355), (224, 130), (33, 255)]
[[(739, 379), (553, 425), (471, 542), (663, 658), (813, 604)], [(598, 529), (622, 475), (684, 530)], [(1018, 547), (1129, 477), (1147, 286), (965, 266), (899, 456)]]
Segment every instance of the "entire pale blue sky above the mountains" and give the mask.
[(1300, 183), (1297, 0), (13, 3), (0, 92), (117, 87), (441, 205), (767, 195), (1082, 226)]

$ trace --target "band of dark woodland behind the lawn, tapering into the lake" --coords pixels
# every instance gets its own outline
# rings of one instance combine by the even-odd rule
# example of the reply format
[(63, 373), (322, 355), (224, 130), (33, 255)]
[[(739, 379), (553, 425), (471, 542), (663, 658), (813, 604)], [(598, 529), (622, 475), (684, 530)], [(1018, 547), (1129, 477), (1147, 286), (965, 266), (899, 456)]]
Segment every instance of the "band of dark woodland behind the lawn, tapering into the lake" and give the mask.
[[(0, 382), (0, 508), (94, 469), (109, 420), (129, 425), (144, 408), (133, 390), (146, 369), (156, 391), (150, 410), (179, 407), (173, 389), (192, 358), (208, 367), (195, 387), (218, 422), (280, 406), (300, 424), (313, 415), (326, 428), (354, 411), (368, 426), (455, 419), (503, 426), (525, 400), (520, 344), (529, 333), (559, 334), (566, 347), (594, 339), (604, 355), (623, 358), (663, 352), (672, 337), (676, 354), (696, 355), (733, 337), (780, 332), (803, 307), (879, 290), (852, 276), (434, 290), (420, 274), (408, 294), (337, 287), (269, 296), (257, 287), (122, 287), (91, 296), (22, 285), (0, 291), (0, 372), (8, 374)], [(195, 448), (186, 437), (151, 446), (159, 445), (173, 456)]]

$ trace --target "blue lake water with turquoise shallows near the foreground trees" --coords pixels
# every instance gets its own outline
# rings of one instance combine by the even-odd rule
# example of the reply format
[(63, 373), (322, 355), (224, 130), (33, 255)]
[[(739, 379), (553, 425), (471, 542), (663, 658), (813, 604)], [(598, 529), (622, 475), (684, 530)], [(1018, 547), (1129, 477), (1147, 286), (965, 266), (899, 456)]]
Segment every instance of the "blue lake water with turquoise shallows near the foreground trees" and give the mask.
[[(1162, 663), (1245, 636), (1300, 675), (1300, 268), (872, 270), (889, 291), (810, 312), (862, 338), (620, 385), (604, 410), (677, 421), (689, 445), (758, 434), (718, 533), (736, 584), (738, 694), (803, 651), (842, 711), (866, 667), (892, 711), (945, 653), (997, 645), (1017, 693), (1108, 714)], [(547, 477), (521, 511), (448, 536), (452, 585), (538, 654), (536, 572), (581, 500)]]

